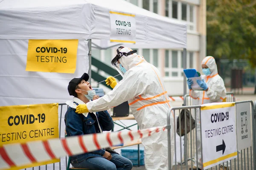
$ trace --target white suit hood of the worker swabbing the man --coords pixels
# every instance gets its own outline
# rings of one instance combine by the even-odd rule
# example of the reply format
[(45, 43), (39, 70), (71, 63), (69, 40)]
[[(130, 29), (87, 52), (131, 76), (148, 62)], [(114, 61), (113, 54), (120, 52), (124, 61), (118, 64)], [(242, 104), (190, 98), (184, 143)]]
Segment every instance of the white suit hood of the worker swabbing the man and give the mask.
[[(133, 51), (131, 48), (125, 47), (120, 50), (122, 53), (128, 53), (130, 51)], [(129, 69), (133, 68), (134, 66), (138, 65), (139, 63), (145, 61), (143, 56), (138, 55), (137, 53), (128, 55), (128, 56), (122, 56), (119, 59), (119, 62), (122, 64), (122, 66), (128, 71)]]

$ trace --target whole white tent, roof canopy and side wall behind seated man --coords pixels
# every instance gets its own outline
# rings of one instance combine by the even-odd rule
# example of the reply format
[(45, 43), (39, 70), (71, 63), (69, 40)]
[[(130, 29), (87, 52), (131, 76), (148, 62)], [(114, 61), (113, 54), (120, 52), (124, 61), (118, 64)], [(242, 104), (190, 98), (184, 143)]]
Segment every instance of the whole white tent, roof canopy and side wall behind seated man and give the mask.
[[(131, 48), (186, 48), (186, 24), (125, 0), (0, 0), (0, 105), (71, 99), (70, 79), (90, 73), (88, 39), (99, 48), (118, 44), (109, 42), (110, 11), (135, 15), (136, 44), (127, 45)], [(79, 39), (75, 73), (25, 71), (32, 39)]]

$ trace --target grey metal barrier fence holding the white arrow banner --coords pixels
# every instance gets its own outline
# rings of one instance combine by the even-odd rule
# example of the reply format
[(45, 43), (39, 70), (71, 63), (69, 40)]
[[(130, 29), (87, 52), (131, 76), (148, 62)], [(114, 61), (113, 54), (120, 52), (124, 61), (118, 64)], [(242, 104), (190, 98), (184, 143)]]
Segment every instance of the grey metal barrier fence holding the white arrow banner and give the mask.
[[(211, 170), (220, 170), (221, 166), (224, 167), (228, 167), (229, 170), (256, 170), (256, 148), (255, 148), (255, 134), (256, 134), (256, 110), (254, 110), (254, 108), (256, 109), (256, 101), (253, 105), (253, 101), (241, 101), (241, 102), (235, 102), (235, 105), (240, 104), (240, 103), (250, 103), (251, 104), (251, 120), (252, 120), (252, 146), (248, 147), (246, 149), (243, 150), (238, 150), (237, 151), (237, 158), (227, 161), (225, 162), (225, 164), (218, 164), (215, 167), (211, 167)], [(253, 108), (254, 107), (254, 108)], [(202, 134), (198, 134), (197, 129), (197, 123), (195, 123), (195, 129), (192, 130), (191, 129), (191, 115), (190, 115), (190, 132), (188, 132), (188, 129), (186, 128), (186, 116), (185, 116), (185, 140), (184, 140), (184, 157), (182, 156), (181, 153), (183, 153), (183, 151), (180, 151), (180, 159), (183, 160), (182, 164), (177, 164), (177, 162), (175, 161), (175, 163), (173, 163), (173, 160), (177, 159), (177, 153), (175, 151), (175, 155), (174, 158), (171, 157), (171, 150), (173, 148), (171, 148), (171, 129), (170, 129), (170, 115), (171, 112), (174, 112), (175, 115), (175, 111), (178, 111), (179, 115), (181, 110), (183, 109), (188, 109), (190, 111), (190, 113), (192, 112), (192, 110), (194, 110), (195, 112), (195, 121), (197, 119), (197, 117), (199, 116), (200, 118), (200, 122), (201, 122), (201, 105), (193, 105), (193, 106), (182, 106), (182, 107), (172, 107), (170, 108), (168, 115), (167, 115), (167, 123), (168, 123), (168, 160), (169, 160), (169, 170), (175, 169), (175, 170), (182, 170), (183, 168), (185, 168), (185, 170), (188, 170), (190, 167), (192, 168), (193, 165), (195, 164), (196, 167), (198, 167), (198, 147), (202, 150), (202, 142), (200, 142), (200, 146), (198, 146), (198, 142), (196, 141), (197, 137), (200, 137), (200, 141), (202, 141)], [(199, 111), (199, 115), (197, 113), (197, 110)], [(176, 116), (175, 119), (176, 120)], [(180, 116), (179, 116), (179, 123), (181, 122)], [(176, 121), (174, 121), (174, 126), (176, 127)], [(201, 124), (200, 124), (200, 131), (201, 131)], [(181, 133), (181, 129), (180, 129), (180, 133)], [(199, 135), (199, 136), (198, 136)], [(188, 136), (188, 138), (186, 138), (186, 136)], [(174, 133), (174, 140), (176, 141), (176, 138), (180, 137), (177, 136), (176, 133)], [(180, 137), (180, 141), (181, 141), (181, 137)], [(175, 148), (176, 148), (177, 144), (175, 142)], [(180, 146), (181, 146), (181, 142), (180, 142)], [(195, 157), (193, 157), (193, 154), (195, 153)], [(188, 156), (190, 156), (190, 158), (188, 159)], [(203, 155), (201, 152), (201, 158), (202, 158), (202, 162), (203, 162)], [(172, 167), (172, 164), (174, 164), (174, 167)], [(194, 165), (194, 166), (195, 166)], [(172, 168), (171, 168), (172, 167)]]

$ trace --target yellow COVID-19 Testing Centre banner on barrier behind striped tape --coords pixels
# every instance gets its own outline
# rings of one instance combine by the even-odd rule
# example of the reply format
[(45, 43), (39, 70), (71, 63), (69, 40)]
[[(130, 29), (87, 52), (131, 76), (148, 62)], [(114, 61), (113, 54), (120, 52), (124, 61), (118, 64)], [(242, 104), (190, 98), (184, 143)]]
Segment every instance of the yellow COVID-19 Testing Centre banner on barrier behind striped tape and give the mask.
[[(0, 107), (0, 146), (58, 138), (58, 103)], [(59, 162), (52, 159), (11, 170)]]

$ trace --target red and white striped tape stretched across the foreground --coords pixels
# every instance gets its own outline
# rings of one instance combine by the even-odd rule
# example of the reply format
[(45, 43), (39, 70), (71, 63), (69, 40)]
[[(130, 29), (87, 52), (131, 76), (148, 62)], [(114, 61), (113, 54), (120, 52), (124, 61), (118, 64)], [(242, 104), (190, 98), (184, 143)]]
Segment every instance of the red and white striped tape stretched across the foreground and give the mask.
[(162, 130), (165, 130), (165, 127), (153, 127), (137, 131), (94, 133), (23, 144), (6, 144), (0, 147), (0, 170), (48, 161), (61, 156), (92, 152), (104, 147), (151, 136), (151, 134)]

